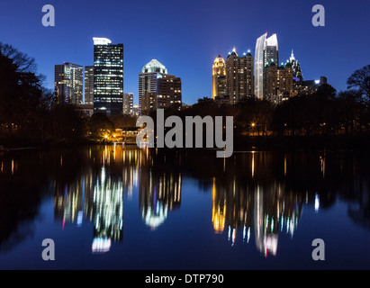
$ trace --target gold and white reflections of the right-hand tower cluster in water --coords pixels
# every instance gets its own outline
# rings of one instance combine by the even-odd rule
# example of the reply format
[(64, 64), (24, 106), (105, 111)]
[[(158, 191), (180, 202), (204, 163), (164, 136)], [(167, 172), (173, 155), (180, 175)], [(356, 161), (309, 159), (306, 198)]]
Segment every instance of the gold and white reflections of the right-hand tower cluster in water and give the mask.
[(260, 178), (260, 181), (254, 181), (258, 176), (258, 165), (271, 166), (271, 163), (266, 163), (269, 159), (263, 155), (257, 157), (257, 154), (250, 153), (248, 159), (250, 178), (240, 177), (240, 171), (230, 171), (234, 176), (220, 177), (220, 181), (213, 177), (213, 229), (216, 234), (221, 234), (226, 227), (231, 246), (235, 245), (238, 231), (242, 231), (242, 240), (246, 243), (250, 241), (254, 231), (257, 250), (265, 257), (275, 256), (279, 233), (290, 234), (293, 238), (302, 214), (303, 197), (299, 193), (289, 192), (284, 183), (275, 180), (266, 181)]

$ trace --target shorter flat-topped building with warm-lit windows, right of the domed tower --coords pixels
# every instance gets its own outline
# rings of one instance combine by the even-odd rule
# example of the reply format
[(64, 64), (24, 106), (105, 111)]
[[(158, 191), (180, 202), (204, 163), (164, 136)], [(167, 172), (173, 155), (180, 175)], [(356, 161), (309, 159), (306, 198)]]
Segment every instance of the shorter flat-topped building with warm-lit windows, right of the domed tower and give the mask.
[(183, 103), (181, 78), (165, 75), (157, 79), (157, 108), (167, 108), (172, 104)]

